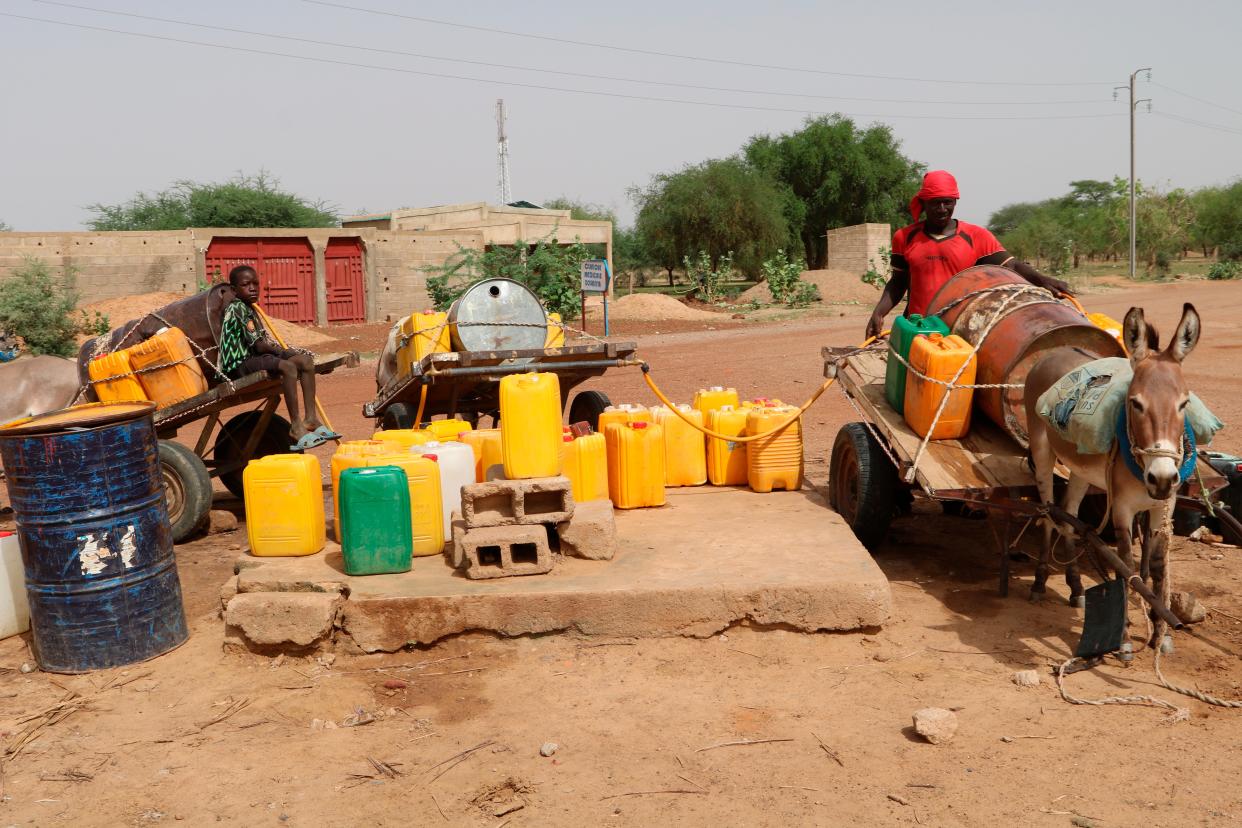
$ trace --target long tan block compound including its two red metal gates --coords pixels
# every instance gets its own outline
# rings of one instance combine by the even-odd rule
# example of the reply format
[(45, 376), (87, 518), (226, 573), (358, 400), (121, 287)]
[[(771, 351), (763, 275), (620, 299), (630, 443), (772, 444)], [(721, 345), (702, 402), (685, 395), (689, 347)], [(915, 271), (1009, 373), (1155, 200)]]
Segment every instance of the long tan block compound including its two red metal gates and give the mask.
[(612, 225), (568, 210), (483, 202), (353, 216), (342, 227), (189, 228), (139, 232), (0, 232), (0, 281), (25, 257), (77, 268), (82, 302), (139, 293), (193, 294), (237, 264), (260, 272), (263, 307), (301, 324), (397, 319), (425, 308), (430, 266), (461, 247), (556, 238), (602, 245)]

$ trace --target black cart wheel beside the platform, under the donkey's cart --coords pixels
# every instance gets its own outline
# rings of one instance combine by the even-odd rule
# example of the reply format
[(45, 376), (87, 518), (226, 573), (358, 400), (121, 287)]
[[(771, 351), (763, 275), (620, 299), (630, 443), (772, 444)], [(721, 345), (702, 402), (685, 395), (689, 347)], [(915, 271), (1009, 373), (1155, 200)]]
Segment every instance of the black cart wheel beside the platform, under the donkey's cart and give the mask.
[(897, 508), (897, 469), (861, 422), (842, 426), (832, 443), (828, 504), (867, 549), (888, 534)]

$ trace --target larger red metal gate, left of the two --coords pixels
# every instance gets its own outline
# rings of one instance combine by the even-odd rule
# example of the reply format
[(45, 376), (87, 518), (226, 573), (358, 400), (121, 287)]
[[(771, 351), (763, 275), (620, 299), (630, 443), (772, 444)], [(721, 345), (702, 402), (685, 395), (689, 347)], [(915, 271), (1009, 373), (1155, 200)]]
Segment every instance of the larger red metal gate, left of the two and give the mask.
[(206, 264), (212, 282), (227, 279), (238, 264), (252, 266), (263, 310), (302, 325), (315, 323), (314, 251), (306, 238), (214, 238)]

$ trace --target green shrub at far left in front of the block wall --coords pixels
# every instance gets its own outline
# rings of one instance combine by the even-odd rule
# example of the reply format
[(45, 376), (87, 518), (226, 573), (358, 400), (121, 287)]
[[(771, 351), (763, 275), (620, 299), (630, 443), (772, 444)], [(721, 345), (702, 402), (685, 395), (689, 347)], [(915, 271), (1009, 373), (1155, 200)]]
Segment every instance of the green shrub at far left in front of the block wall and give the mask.
[(66, 266), (57, 277), (41, 259), (26, 258), (12, 276), (0, 282), (0, 328), (21, 336), (36, 356), (75, 356), (78, 334), (108, 333), (108, 318), (77, 312), (77, 269)]

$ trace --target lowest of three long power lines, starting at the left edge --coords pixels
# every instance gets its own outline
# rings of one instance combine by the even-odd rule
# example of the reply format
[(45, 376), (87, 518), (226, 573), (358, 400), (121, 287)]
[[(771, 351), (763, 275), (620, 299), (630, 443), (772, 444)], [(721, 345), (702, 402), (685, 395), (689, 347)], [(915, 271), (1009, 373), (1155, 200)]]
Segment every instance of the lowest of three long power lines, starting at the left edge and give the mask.
[(776, 112), (776, 113), (805, 114), (805, 115), (831, 115), (831, 114), (840, 114), (840, 115), (845, 115), (845, 117), (848, 117), (848, 118), (905, 118), (905, 119), (914, 119), (914, 120), (1078, 120), (1078, 119), (1086, 119), (1086, 118), (1117, 118), (1117, 117), (1119, 117), (1118, 113), (1074, 114), (1074, 115), (1015, 115), (1015, 114), (1004, 114), (1004, 115), (969, 115), (969, 114), (929, 115), (929, 114), (832, 113), (832, 112), (822, 112), (822, 110), (815, 110), (815, 109), (794, 109), (794, 108), (789, 108), (789, 107), (763, 107), (763, 106), (744, 104), (744, 103), (717, 103), (717, 102), (712, 102), (712, 101), (693, 101), (693, 99), (683, 99), (683, 98), (657, 98), (655, 96), (628, 94), (628, 93), (623, 93), (623, 92), (605, 92), (605, 91), (601, 91), (601, 89), (576, 89), (576, 88), (573, 88), (573, 87), (556, 87), (556, 86), (545, 86), (545, 84), (539, 84), (539, 83), (523, 83), (520, 81), (499, 81), (499, 79), (492, 79), (492, 78), (471, 77), (471, 76), (465, 76), (465, 74), (447, 74), (447, 73), (443, 73), (443, 72), (425, 72), (425, 71), (420, 71), (420, 70), (409, 70), (409, 68), (402, 68), (402, 67), (396, 67), (396, 66), (378, 66), (375, 63), (358, 63), (358, 62), (354, 62), (354, 61), (342, 61), (342, 60), (330, 58), (330, 57), (314, 57), (314, 56), (310, 56), (310, 55), (293, 55), (293, 53), (289, 53), (289, 52), (273, 52), (273, 51), (262, 50), (262, 48), (248, 48), (246, 46), (229, 46), (229, 45), (225, 45), (225, 43), (210, 43), (210, 42), (199, 41), (199, 40), (186, 40), (184, 37), (169, 37), (166, 35), (152, 35), (152, 34), (147, 34), (147, 32), (135, 32), (135, 31), (127, 31), (127, 30), (122, 30), (122, 29), (111, 29), (111, 27), (107, 27), (107, 26), (92, 26), (92, 25), (88, 25), (88, 24), (75, 24), (75, 22), (68, 22), (68, 21), (65, 21), (65, 20), (50, 20), (47, 17), (32, 17), (32, 16), (29, 16), (29, 15), (15, 15), (15, 14), (10, 14), (10, 12), (0, 12), (0, 16), (2, 16), (2, 17), (11, 17), (14, 20), (26, 20), (26, 21), (32, 21), (32, 22), (48, 24), (48, 25), (53, 25), (53, 26), (67, 26), (70, 29), (81, 29), (81, 30), (86, 30), (86, 31), (99, 31), (99, 32), (107, 32), (107, 34), (111, 34), (111, 35), (124, 35), (124, 36), (128, 36), (128, 37), (142, 37), (142, 38), (145, 38), (145, 40), (158, 40), (158, 41), (169, 42), (169, 43), (181, 43), (184, 46), (202, 46), (202, 47), (206, 47), (206, 48), (219, 48), (219, 50), (225, 50), (225, 51), (231, 51), (231, 52), (243, 52), (243, 53), (247, 53), (247, 55), (262, 55), (262, 56), (266, 56), (266, 57), (283, 57), (283, 58), (293, 60), (293, 61), (303, 61), (303, 62), (310, 62), (310, 63), (325, 63), (325, 65), (329, 65), (329, 66), (347, 66), (347, 67), (351, 67), (351, 68), (375, 70), (375, 71), (380, 71), (380, 72), (396, 72), (396, 73), (400, 73), (400, 74), (414, 74), (414, 76), (419, 76), (419, 77), (431, 77), (431, 78), (441, 78), (441, 79), (448, 79), (448, 81), (467, 81), (467, 82), (471, 82), (471, 83), (486, 83), (486, 84), (492, 84), (492, 86), (508, 86), (508, 87), (517, 87), (517, 88), (522, 88), (522, 89), (539, 89), (539, 91), (544, 91), (544, 92), (568, 92), (568, 93), (573, 93), (573, 94), (594, 94), (594, 96), (602, 96), (602, 97), (607, 97), (607, 98), (621, 98), (621, 99), (626, 99), (626, 101), (648, 101), (648, 102), (657, 102), (657, 103), (674, 103), (674, 104), (678, 104), (678, 106), (710, 107), (710, 108), (715, 108), (715, 109), (744, 109), (744, 110), (751, 110), (751, 112)]

